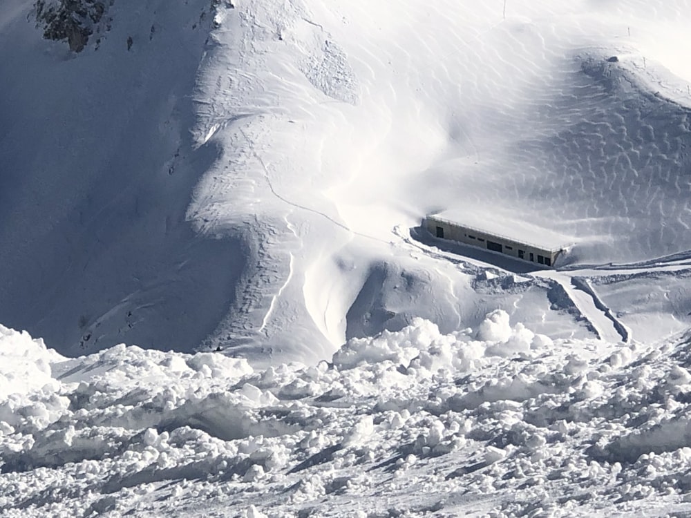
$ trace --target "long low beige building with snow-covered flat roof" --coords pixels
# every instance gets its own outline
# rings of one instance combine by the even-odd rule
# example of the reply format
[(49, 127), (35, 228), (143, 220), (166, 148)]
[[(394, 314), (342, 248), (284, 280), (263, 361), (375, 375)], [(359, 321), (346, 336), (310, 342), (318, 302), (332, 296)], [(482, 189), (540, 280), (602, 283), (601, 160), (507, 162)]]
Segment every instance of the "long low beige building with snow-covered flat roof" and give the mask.
[(565, 236), (527, 222), (507, 225), (478, 221), (460, 211), (428, 215), (424, 227), (437, 238), (470, 244), (552, 268), (570, 244)]

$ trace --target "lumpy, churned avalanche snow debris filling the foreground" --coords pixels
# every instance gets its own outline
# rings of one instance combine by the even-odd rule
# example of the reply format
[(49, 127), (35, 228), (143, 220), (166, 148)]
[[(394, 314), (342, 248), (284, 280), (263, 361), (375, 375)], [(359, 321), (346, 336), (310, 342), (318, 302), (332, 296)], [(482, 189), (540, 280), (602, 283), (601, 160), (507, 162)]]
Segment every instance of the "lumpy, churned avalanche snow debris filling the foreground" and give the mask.
[(691, 338), (551, 340), (504, 311), (316, 365), (0, 328), (3, 516), (685, 516)]

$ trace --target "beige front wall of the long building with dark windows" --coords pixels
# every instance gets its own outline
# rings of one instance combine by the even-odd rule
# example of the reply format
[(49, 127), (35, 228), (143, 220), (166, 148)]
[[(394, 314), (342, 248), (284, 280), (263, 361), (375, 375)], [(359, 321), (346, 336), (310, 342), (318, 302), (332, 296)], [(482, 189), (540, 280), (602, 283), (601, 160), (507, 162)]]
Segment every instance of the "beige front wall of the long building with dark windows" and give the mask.
[[(560, 253), (560, 250), (551, 251), (533, 247), (529, 244), (493, 236), (490, 233), (468, 229), (460, 224), (453, 224), (443, 220), (435, 220), (435, 218), (426, 218), (425, 226), (426, 229), (433, 236), (437, 236), (437, 238), (470, 244), (473, 247), (503, 253), (506, 256), (519, 258), (527, 262), (535, 262), (536, 264), (545, 265), (548, 267), (554, 266), (554, 261)], [(439, 231), (439, 229), (442, 230)], [(440, 233), (442, 233), (443, 236), (440, 236)]]

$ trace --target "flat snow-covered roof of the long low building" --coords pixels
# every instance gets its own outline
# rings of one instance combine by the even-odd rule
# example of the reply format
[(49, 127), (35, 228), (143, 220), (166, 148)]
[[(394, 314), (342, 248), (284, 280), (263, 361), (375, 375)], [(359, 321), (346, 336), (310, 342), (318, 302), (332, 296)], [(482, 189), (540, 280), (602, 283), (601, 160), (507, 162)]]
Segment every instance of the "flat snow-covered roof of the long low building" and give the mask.
[(543, 250), (556, 251), (574, 243), (574, 238), (524, 220), (489, 219), (486, 215), (475, 211), (450, 209), (429, 215), (428, 218), (445, 221), (459, 227), (473, 229)]

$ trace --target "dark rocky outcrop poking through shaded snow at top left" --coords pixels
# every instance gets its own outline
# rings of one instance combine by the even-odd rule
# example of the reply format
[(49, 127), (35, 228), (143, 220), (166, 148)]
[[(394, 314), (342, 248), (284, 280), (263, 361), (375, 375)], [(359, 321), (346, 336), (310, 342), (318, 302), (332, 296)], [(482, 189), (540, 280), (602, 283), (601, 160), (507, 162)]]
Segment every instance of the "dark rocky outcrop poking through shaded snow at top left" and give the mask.
[[(100, 0), (36, 0), (36, 21), (44, 38), (67, 41), (70, 50), (81, 52), (94, 32), (101, 32), (104, 15), (111, 6)], [(107, 30), (106, 26), (106, 30)]]

